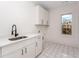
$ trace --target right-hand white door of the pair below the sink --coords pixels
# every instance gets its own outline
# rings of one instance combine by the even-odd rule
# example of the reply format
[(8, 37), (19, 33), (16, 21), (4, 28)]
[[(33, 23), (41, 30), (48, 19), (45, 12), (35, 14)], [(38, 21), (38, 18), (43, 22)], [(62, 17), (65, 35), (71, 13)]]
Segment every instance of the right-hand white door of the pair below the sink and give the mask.
[(33, 58), (35, 57), (35, 42), (26, 46), (25, 48), (25, 58)]

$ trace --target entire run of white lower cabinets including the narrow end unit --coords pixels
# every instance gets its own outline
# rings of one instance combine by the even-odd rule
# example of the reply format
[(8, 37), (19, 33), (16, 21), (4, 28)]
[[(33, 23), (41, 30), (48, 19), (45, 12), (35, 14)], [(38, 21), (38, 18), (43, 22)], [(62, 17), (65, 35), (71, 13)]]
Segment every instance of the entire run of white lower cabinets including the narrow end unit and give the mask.
[[(2, 53), (2, 58), (34, 58), (37, 55), (39, 55), (39, 53), (42, 51), (41, 35), (38, 35), (33, 39), (26, 41), (25, 43), (24, 42), (20, 42), (22, 44), (16, 43), (17, 45), (13, 44), (11, 46), (9, 45), (9, 46), (6, 46), (6, 48), (3, 48), (4, 50)], [(27, 45), (27, 43), (30, 43), (30, 44)]]

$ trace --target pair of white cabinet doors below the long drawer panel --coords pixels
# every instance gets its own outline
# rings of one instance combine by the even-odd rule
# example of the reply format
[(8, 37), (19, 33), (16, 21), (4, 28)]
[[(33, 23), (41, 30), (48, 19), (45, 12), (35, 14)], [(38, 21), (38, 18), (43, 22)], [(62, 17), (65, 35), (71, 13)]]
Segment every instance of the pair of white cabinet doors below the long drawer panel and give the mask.
[(35, 43), (25, 46), (21, 49), (13, 51), (7, 55), (3, 56), (4, 58), (33, 58), (35, 57)]

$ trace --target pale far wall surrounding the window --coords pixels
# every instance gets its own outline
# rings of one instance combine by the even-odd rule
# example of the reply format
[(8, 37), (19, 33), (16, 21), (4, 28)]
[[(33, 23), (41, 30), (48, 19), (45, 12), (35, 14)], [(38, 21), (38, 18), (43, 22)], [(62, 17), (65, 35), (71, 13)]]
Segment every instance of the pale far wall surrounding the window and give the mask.
[[(50, 10), (47, 41), (79, 47), (79, 6), (65, 6)], [(72, 35), (61, 33), (61, 14), (72, 13)]]

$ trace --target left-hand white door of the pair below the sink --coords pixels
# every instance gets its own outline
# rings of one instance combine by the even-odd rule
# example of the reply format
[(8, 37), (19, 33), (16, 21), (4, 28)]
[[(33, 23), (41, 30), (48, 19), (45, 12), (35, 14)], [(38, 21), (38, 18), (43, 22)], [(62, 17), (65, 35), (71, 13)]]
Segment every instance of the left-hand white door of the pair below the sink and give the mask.
[(23, 50), (22, 49), (18, 49), (16, 51), (13, 51), (11, 53), (8, 53), (4, 56), (2, 56), (3, 58), (22, 58), (23, 57)]

